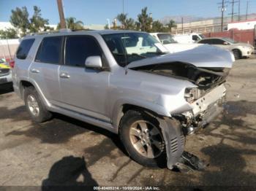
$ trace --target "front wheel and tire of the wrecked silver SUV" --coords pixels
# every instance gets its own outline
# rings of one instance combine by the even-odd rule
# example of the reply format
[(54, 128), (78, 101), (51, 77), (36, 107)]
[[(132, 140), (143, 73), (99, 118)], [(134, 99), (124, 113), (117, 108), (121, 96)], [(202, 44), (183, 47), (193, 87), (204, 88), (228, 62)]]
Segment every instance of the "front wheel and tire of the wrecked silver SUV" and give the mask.
[(165, 167), (165, 141), (159, 122), (145, 114), (129, 110), (122, 117), (119, 136), (129, 156), (141, 165)]

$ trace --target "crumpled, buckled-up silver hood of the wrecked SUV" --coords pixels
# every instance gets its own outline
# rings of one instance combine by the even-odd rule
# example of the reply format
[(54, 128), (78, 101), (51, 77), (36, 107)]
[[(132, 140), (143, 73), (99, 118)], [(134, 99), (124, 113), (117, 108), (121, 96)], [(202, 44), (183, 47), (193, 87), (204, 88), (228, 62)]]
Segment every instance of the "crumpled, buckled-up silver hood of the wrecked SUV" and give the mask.
[(134, 61), (129, 63), (127, 67), (135, 68), (157, 63), (175, 63), (177, 61), (182, 63), (191, 63), (194, 66), (203, 68), (231, 68), (235, 58), (233, 53), (228, 50), (204, 44), (183, 52), (176, 52), (173, 54), (160, 55), (152, 58), (145, 58), (140, 61)]

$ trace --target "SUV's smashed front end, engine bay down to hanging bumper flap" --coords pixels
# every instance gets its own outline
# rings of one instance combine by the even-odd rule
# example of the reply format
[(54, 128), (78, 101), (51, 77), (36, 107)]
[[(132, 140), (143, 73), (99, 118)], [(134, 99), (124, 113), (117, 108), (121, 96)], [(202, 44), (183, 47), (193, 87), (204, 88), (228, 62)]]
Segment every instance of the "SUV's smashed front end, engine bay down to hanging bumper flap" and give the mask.
[(184, 136), (204, 127), (222, 112), (226, 93), (224, 82), (230, 69), (200, 68), (190, 63), (181, 62), (151, 64), (133, 69), (165, 77), (184, 79), (196, 85), (184, 89), (184, 99), (190, 108), (189, 110), (173, 111), (171, 118), (158, 119), (165, 137), (167, 166), (172, 169), (183, 155)]

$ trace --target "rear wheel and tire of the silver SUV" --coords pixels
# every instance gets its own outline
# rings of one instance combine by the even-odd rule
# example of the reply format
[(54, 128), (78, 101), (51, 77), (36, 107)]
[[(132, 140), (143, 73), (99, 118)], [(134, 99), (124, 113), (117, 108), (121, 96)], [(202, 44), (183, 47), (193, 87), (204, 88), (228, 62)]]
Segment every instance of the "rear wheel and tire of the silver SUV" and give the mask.
[(33, 86), (25, 88), (24, 101), (31, 120), (34, 122), (45, 122), (52, 117), (52, 114), (45, 108), (37, 90)]

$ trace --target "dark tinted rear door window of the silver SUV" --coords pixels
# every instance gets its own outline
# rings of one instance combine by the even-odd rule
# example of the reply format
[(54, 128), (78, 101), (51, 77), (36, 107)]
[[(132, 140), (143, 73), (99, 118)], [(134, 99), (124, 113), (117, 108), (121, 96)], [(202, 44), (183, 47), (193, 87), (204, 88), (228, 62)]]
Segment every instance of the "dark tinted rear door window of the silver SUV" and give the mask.
[(45, 37), (42, 39), (35, 61), (58, 64), (61, 55), (61, 40), (61, 36)]

